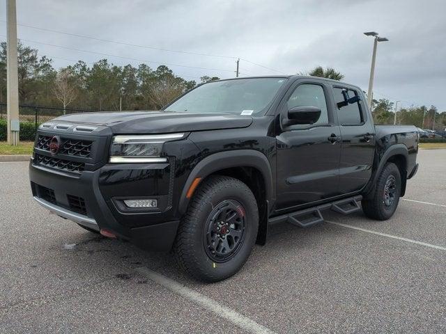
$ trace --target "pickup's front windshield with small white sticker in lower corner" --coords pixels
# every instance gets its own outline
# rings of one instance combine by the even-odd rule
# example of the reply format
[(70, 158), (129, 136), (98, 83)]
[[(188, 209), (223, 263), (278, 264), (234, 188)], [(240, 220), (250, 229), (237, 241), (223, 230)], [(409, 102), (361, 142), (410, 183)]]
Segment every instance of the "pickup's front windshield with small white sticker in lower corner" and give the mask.
[(167, 111), (189, 113), (259, 114), (272, 102), (285, 78), (252, 78), (214, 81), (180, 97)]

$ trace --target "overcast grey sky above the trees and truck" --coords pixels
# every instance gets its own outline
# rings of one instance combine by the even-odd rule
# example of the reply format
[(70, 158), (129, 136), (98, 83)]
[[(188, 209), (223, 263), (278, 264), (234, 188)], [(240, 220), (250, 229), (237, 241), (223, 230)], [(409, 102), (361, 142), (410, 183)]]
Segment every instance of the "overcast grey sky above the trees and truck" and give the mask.
[[(0, 8), (5, 40), (6, 0)], [(56, 68), (107, 58), (116, 65), (171, 64), (199, 81), (235, 77), (240, 58), (241, 77), (322, 65), (363, 90), (373, 49), (363, 33), (376, 31), (389, 42), (378, 43), (374, 98), (446, 111), (445, 14), (445, 0), (17, 0), (17, 29)]]

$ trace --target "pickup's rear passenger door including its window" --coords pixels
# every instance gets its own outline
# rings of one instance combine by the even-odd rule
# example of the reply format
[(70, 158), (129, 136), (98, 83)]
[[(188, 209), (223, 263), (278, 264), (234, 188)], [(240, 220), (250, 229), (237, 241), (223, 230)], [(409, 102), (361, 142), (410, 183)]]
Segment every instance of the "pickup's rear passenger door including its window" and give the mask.
[[(337, 103), (345, 101), (343, 90), (350, 98), (359, 96), (360, 102), (339, 107)], [(368, 119), (364, 95), (357, 88), (333, 86), (333, 97), (341, 130), (339, 191), (352, 193), (362, 189), (371, 177), (375, 128)]]

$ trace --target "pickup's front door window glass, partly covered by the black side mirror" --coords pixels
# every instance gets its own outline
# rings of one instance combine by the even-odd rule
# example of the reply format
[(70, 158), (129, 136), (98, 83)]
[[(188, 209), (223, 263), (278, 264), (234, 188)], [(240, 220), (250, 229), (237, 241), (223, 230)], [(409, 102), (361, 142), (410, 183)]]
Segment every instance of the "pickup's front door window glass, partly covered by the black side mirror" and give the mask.
[[(295, 106), (316, 106), (321, 109), (321, 117), (319, 117), (314, 125), (328, 124), (327, 102), (322, 86), (314, 84), (302, 84), (295, 88), (293, 94), (288, 99), (288, 109)], [(295, 125), (295, 127), (306, 127), (305, 125)]]

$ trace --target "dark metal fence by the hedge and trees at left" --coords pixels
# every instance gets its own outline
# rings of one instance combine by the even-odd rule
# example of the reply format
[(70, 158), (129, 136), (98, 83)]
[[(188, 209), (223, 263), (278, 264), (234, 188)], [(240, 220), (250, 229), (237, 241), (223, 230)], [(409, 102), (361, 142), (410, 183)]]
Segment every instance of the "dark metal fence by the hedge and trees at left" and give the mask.
[[(65, 113), (89, 113), (94, 110), (66, 108)], [(19, 104), (20, 122), (33, 122), (36, 126), (64, 114), (63, 108)], [(6, 120), (6, 103), (0, 103), (0, 120)]]

